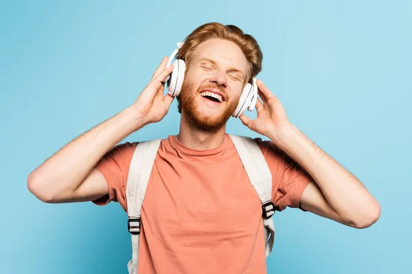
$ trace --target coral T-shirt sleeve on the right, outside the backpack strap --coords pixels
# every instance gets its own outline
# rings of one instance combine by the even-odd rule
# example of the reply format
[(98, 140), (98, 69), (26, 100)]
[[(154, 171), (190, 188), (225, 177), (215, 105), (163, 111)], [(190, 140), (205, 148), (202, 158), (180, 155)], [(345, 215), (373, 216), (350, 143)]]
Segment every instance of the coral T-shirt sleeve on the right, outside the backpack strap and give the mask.
[(271, 141), (255, 138), (272, 173), (272, 201), (277, 211), (299, 208), (301, 195), (312, 177)]

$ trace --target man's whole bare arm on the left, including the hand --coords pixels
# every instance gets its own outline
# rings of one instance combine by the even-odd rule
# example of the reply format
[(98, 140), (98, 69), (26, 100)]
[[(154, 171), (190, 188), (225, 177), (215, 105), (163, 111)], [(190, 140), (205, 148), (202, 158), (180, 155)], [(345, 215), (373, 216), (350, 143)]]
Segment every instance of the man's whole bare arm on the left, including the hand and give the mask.
[(173, 66), (165, 69), (167, 61), (163, 58), (133, 105), (72, 140), (32, 171), (27, 177), (30, 192), (46, 203), (91, 201), (106, 195), (106, 181), (95, 165), (117, 142), (168, 112), (173, 98), (163, 97), (163, 80)]

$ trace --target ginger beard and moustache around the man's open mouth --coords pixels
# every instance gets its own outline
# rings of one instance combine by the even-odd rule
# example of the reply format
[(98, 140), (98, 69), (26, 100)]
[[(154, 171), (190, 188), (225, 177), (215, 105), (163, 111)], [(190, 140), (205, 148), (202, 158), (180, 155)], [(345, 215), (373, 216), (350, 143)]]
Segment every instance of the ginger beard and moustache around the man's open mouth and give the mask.
[[(205, 88), (218, 88), (217, 86), (201, 86), (198, 90), (194, 90), (194, 85), (183, 81), (181, 88), (181, 107), (182, 114), (187, 118), (187, 122), (192, 127), (202, 129), (206, 132), (216, 132), (222, 127), (225, 127), (226, 122), (229, 120), (231, 114), (236, 110), (238, 105), (237, 101), (232, 101), (226, 105), (225, 110), (220, 114), (205, 114), (198, 109), (196, 105), (196, 97), (200, 95), (201, 90)], [(220, 91), (224, 92), (221, 88)], [(225, 103), (230, 102), (229, 97), (226, 98)]]

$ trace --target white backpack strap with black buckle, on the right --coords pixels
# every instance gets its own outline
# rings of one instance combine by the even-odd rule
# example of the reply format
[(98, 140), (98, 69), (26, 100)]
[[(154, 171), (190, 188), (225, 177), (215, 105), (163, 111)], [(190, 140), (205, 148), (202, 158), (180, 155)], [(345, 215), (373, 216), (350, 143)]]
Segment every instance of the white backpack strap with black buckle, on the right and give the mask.
[(272, 251), (275, 240), (275, 225), (272, 218), (273, 214), (275, 214), (275, 205), (271, 201), (272, 174), (260, 147), (253, 138), (231, 134), (229, 136), (238, 151), (249, 180), (256, 192), (258, 192), (262, 202), (262, 219), (267, 257)]

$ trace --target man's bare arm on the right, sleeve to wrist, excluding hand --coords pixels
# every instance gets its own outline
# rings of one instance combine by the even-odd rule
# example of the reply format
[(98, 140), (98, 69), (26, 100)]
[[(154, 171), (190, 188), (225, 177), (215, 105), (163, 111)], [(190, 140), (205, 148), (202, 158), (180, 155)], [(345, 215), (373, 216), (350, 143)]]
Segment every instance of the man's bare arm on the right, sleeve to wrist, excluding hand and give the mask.
[(314, 179), (301, 197), (301, 208), (356, 228), (378, 220), (380, 205), (365, 186), (297, 127), (284, 125), (269, 138)]

